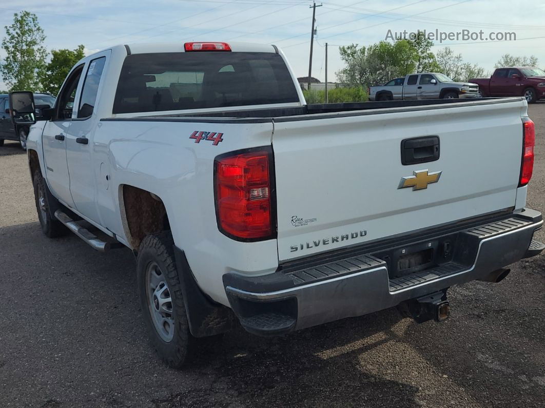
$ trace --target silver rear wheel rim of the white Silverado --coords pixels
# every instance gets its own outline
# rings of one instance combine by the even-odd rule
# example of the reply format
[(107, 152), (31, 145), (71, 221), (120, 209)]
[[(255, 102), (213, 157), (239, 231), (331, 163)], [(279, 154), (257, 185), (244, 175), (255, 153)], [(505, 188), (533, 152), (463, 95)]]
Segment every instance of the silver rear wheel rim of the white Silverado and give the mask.
[(174, 338), (172, 297), (164, 273), (153, 261), (146, 268), (146, 293), (155, 330), (164, 342), (169, 343)]

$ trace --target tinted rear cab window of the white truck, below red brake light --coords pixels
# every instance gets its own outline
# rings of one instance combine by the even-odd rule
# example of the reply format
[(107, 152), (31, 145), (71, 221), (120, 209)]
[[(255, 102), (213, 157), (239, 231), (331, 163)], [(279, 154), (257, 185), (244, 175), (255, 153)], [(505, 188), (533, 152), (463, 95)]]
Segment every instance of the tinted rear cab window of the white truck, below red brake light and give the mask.
[(172, 52), (125, 58), (113, 113), (299, 102), (279, 54)]

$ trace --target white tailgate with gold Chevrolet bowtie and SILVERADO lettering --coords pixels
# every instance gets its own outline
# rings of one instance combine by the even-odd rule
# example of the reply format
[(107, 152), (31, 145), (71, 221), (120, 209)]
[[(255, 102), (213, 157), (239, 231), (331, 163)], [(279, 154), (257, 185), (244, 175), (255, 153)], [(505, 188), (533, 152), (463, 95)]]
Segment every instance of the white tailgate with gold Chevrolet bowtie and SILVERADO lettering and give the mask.
[[(521, 115), (511, 99), (276, 118), (279, 259), (513, 207)], [(402, 141), (429, 136), (439, 159), (403, 165)]]

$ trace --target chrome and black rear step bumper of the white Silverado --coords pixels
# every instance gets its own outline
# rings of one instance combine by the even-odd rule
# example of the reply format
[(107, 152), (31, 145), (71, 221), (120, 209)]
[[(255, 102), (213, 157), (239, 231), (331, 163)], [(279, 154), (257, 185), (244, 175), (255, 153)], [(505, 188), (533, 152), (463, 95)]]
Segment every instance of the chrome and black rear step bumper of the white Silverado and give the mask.
[[(502, 220), (460, 229), (449, 261), (425, 270), (390, 277), (388, 264), (374, 253), (331, 254), (317, 264), (309, 258), (295, 269), (259, 277), (237, 273), (223, 276), (231, 307), (241, 325), (254, 334), (283, 334), (351, 316), (397, 306), (455, 284), (486, 278), (490, 272), (539, 254), (545, 246), (534, 240), (541, 228), (540, 212), (524, 209)], [(438, 237), (440, 239), (440, 237)], [(421, 246), (433, 238), (403, 242)], [(432, 245), (431, 243), (429, 245)], [(396, 250), (398, 248), (392, 248)]]

